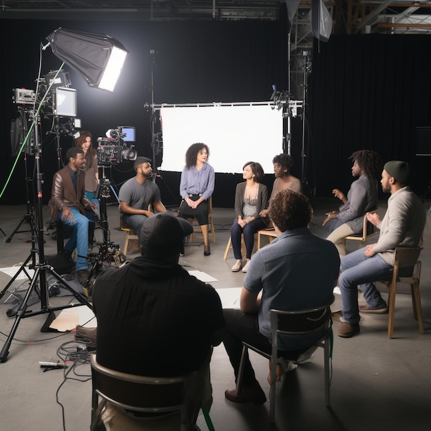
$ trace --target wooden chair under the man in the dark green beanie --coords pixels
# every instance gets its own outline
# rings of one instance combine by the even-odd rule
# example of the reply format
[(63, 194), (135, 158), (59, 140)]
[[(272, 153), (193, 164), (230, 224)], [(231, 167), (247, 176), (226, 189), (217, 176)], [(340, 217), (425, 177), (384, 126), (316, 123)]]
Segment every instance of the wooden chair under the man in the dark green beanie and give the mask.
[[(421, 247), (397, 247), (395, 249), (395, 263), (392, 278), (381, 281), (389, 289), (388, 299), (388, 338), (394, 334), (395, 321), (395, 297), (397, 295), (397, 283), (410, 284), (412, 294), (413, 317), (418, 321), (419, 332), (423, 334), (423, 316), (421, 306), (421, 295), (419, 293), (419, 282), (421, 281), (421, 261), (418, 260)], [(399, 271), (403, 268), (414, 266), (413, 274), (410, 277), (402, 277)]]

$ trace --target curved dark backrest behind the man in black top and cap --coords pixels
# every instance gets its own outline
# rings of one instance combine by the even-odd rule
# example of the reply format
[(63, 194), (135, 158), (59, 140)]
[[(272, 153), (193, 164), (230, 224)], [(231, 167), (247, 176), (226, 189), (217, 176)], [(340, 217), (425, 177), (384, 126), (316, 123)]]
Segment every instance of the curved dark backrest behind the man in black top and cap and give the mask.
[(91, 355), (93, 390), (115, 406), (136, 412), (181, 410), (187, 377), (130, 375), (98, 364)]

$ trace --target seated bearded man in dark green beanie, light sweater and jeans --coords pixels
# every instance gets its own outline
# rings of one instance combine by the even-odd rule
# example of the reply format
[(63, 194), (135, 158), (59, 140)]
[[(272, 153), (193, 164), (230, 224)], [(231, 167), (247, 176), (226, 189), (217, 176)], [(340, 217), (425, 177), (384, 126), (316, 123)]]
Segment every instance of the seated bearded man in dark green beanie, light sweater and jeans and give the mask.
[[(411, 180), (412, 169), (408, 163), (392, 160), (384, 165), (380, 182), (383, 191), (390, 193), (388, 209), (381, 221), (377, 213), (367, 214), (368, 221), (380, 229), (379, 240), (341, 260), (338, 284), (343, 317), (339, 337), (348, 338), (359, 333), (359, 312), (388, 312), (373, 282), (392, 276), (396, 247), (416, 247), (422, 242), (426, 213), (419, 198), (408, 187)], [(407, 270), (410, 273), (405, 275), (411, 275), (412, 269)], [(358, 285), (366, 299), (364, 306), (358, 306)]]

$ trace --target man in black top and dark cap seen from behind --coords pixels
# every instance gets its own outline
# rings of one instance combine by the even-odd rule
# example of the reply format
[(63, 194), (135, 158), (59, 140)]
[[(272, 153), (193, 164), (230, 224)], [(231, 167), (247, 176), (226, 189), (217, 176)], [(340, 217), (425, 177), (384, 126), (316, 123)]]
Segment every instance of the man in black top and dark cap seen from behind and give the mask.
[(203, 370), (209, 397), (202, 404), (209, 408), (209, 359), (222, 341), (224, 318), (214, 288), (178, 264), (192, 231), (172, 213), (152, 215), (140, 233), (142, 256), (99, 275), (93, 291), (96, 351), (99, 364), (134, 375)]

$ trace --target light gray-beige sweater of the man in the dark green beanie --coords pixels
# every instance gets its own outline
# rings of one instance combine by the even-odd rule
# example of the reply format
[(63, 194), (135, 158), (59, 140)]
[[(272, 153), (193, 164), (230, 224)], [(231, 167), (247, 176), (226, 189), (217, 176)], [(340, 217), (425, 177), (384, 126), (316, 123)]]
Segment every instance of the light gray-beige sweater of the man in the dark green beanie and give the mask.
[(409, 187), (399, 189), (388, 199), (388, 209), (378, 226), (380, 236), (374, 251), (393, 265), (397, 246), (417, 247), (422, 244), (425, 222), (426, 212), (419, 198)]

